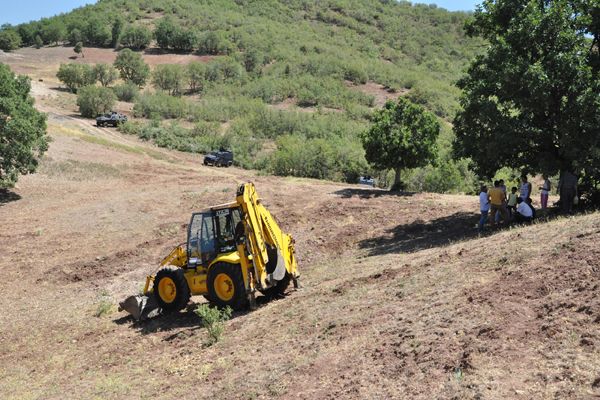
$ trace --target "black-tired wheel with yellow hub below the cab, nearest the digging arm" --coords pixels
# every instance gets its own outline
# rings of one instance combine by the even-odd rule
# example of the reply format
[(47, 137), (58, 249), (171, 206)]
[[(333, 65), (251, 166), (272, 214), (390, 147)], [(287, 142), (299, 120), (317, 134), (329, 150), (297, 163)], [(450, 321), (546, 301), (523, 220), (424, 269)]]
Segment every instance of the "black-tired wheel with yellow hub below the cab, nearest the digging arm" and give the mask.
[[(222, 275), (227, 277), (223, 277)], [(230, 283), (228, 290), (232, 290), (231, 298), (223, 298), (219, 296), (219, 282), (217, 279), (226, 279)], [(208, 270), (206, 284), (208, 286), (208, 299), (219, 307), (229, 306), (234, 310), (243, 310), (248, 306), (248, 298), (246, 296), (246, 287), (242, 276), (242, 268), (239, 264), (216, 263)], [(222, 286), (221, 286), (222, 287)]]

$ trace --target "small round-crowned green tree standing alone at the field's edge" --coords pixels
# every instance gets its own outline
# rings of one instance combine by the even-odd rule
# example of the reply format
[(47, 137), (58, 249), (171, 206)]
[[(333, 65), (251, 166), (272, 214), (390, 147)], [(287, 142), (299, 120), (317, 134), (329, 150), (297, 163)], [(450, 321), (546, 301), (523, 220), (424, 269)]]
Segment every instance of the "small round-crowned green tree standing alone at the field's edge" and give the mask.
[(393, 168), (393, 190), (401, 188), (401, 171), (425, 166), (435, 159), (440, 124), (423, 107), (400, 97), (375, 111), (371, 127), (362, 134), (365, 156), (375, 168)]

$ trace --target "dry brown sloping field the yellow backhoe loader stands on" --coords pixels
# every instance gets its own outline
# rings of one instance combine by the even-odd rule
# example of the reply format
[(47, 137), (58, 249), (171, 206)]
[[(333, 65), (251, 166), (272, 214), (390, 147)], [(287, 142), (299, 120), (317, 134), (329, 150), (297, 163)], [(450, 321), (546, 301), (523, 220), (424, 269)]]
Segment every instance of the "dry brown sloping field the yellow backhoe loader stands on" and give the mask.
[[(600, 397), (599, 214), (478, 237), (474, 196), (204, 167), (94, 127), (52, 87), (34, 86), (50, 150), (0, 195), (1, 398)], [(95, 316), (245, 181), (295, 237), (302, 290), (210, 347), (193, 305)]]

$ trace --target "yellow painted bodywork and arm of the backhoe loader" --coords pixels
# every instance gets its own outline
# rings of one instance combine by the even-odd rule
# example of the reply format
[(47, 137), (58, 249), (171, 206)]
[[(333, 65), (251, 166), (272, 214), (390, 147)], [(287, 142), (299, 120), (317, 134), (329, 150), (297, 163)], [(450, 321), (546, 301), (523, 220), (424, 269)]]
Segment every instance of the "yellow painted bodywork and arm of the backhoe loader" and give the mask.
[[(235, 245), (231, 235), (233, 232), (231, 225), (235, 219), (230, 214), (239, 216), (235, 227)], [(204, 217), (204, 221), (210, 222), (210, 216), (214, 219), (213, 224), (228, 225), (228, 230), (221, 234), (227, 235), (229, 246), (226, 247), (226, 251), (217, 251), (206, 258), (206, 254), (200, 250), (200, 242), (203, 240), (201, 231), (206, 224), (199, 224), (198, 220)], [(229, 216), (226, 224), (219, 220), (220, 216)], [(204, 221), (201, 220), (201, 223)], [(199, 226), (203, 228), (197, 229)], [(223, 268), (223, 265), (227, 266), (227, 271), (218, 273), (216, 268)], [(161, 261), (160, 268), (182, 269), (190, 295), (212, 296), (225, 302), (229, 301), (234, 294), (240, 295), (242, 286), (237, 286), (237, 289), (234, 287), (235, 276), (240, 275), (236, 269), (239, 269), (243, 280), (244, 296), (248, 296), (251, 305), (256, 289), (265, 293), (273, 290), (277, 285), (283, 285), (281, 282), (285, 282), (287, 287), (290, 280), (293, 280), (297, 287), (299, 278), (294, 240), (281, 230), (275, 218), (262, 204), (252, 183), (239, 187), (235, 202), (214, 206), (201, 213), (193, 214), (188, 228), (187, 243), (174, 248)], [(215, 271), (211, 274), (213, 268)], [(160, 281), (156, 285), (157, 275), (158, 273), (146, 278), (144, 295), (158, 295), (163, 302), (172, 302), (176, 296), (175, 282), (172, 278), (161, 277), (164, 282)], [(209, 282), (211, 275), (212, 281)], [(161, 293), (153, 293), (156, 288)]]

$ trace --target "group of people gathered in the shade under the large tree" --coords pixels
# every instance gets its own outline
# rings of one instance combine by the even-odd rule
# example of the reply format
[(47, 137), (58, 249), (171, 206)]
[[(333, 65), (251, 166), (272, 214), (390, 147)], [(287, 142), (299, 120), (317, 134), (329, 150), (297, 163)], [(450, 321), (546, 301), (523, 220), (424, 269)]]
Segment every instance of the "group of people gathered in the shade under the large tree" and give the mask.
[[(548, 196), (552, 186), (547, 176), (544, 176), (544, 184), (539, 189), (541, 191), (542, 208), (548, 207)], [(517, 191), (519, 195), (517, 196)], [(488, 221), (488, 214), (491, 213), (490, 222), (492, 225), (500, 223), (507, 224), (510, 221), (531, 222), (536, 216), (535, 208), (531, 201), (532, 187), (527, 180), (527, 176), (521, 177), (521, 186), (513, 187), (510, 193), (507, 193), (504, 180), (500, 179), (494, 182), (494, 187), (488, 191), (486, 185), (482, 185), (479, 192), (479, 208), (481, 218), (479, 219), (479, 231), (482, 232)]]

